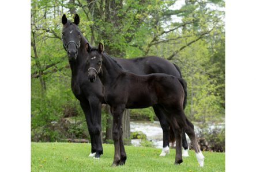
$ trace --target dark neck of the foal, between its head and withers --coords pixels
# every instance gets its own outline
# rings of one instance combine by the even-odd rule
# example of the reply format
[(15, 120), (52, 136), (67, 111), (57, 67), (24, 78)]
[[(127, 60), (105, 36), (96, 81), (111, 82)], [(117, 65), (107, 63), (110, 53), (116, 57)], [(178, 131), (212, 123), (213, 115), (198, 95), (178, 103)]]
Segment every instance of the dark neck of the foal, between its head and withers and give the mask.
[(120, 75), (125, 74), (115, 61), (106, 56), (103, 56), (102, 71), (103, 75), (100, 75), (100, 80), (104, 87), (109, 87)]

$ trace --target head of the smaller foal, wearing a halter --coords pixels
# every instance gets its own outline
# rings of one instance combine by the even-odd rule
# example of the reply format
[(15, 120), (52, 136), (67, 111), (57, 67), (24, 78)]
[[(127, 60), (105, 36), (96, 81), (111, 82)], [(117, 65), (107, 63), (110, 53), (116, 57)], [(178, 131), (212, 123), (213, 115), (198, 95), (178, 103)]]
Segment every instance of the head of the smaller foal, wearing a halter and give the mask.
[(88, 80), (91, 83), (96, 81), (97, 75), (101, 71), (102, 65), (102, 52), (103, 52), (103, 45), (100, 43), (99, 47), (91, 48), (88, 43), (85, 44), (85, 49), (88, 52)]

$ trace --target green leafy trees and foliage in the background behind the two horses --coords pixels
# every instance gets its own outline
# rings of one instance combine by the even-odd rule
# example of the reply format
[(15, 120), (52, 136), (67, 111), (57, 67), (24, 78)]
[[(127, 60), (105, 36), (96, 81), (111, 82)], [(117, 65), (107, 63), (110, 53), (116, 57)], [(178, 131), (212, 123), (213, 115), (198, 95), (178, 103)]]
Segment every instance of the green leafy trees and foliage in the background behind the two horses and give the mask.
[[(185, 1), (179, 7), (176, 7), (177, 0), (72, 2), (31, 1), (33, 141), (88, 135), (84, 114), (70, 88), (71, 72), (61, 41), (61, 17), (66, 14), (73, 20), (74, 15), (70, 13), (73, 9), (80, 15), (82, 34), (92, 45), (104, 42), (111, 56), (155, 55), (177, 64), (187, 81), (185, 113), (190, 120), (205, 126), (210, 122), (224, 122), (223, 0)], [(69, 124), (63, 130), (61, 120), (67, 111), (83, 120), (78, 126)], [(156, 118), (152, 108), (131, 110), (130, 114), (137, 120)], [(103, 132), (106, 126), (103, 110)]]

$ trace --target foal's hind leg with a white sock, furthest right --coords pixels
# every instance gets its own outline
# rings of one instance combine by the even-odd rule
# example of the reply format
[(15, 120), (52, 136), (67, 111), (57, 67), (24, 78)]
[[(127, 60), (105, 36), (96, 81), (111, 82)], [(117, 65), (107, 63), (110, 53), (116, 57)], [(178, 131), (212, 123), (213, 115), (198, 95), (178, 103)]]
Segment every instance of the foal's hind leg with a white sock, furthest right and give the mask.
[(197, 157), (199, 166), (203, 167), (205, 157), (202, 154), (202, 152), (199, 148), (199, 145), (197, 143), (197, 138), (195, 137), (194, 125), (188, 119), (186, 119), (186, 123), (187, 123), (187, 125), (185, 126), (185, 131), (186, 131), (187, 135), (189, 135), (189, 138), (190, 138), (193, 148), (195, 150), (195, 157)]

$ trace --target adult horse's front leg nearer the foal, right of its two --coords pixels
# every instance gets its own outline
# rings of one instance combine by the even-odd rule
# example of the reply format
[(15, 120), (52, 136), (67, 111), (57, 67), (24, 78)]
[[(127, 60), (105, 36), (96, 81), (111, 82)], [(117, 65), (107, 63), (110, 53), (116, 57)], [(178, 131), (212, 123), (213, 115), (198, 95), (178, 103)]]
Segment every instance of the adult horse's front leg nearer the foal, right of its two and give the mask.
[(89, 103), (92, 112), (92, 124), (93, 124), (93, 137), (96, 143), (95, 159), (99, 159), (103, 154), (103, 147), (101, 143), (101, 102), (97, 97), (89, 97)]

